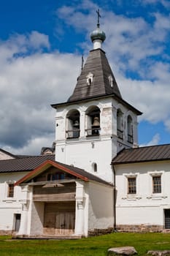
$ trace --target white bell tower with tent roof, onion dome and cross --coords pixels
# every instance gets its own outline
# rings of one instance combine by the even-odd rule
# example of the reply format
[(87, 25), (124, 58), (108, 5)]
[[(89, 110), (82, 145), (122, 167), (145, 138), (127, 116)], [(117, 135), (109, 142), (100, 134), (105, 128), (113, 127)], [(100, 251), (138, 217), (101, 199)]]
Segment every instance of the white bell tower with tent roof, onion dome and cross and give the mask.
[(122, 98), (102, 43), (99, 10), (90, 50), (73, 94), (53, 104), (55, 160), (80, 167), (112, 182), (112, 158), (123, 148), (137, 146), (137, 116), (142, 113)]

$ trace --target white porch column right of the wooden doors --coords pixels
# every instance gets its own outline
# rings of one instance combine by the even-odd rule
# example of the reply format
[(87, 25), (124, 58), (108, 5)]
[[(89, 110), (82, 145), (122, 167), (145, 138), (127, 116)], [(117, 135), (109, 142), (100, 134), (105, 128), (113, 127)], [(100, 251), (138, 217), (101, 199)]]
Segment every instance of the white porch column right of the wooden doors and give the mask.
[(84, 236), (85, 223), (85, 192), (84, 181), (76, 181), (76, 219), (75, 235)]

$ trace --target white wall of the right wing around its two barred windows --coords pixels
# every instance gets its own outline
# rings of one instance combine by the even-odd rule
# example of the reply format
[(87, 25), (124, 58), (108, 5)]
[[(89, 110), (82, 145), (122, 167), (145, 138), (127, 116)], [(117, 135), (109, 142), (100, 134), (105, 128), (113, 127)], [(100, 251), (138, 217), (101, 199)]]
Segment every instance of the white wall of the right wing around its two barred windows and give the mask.
[[(164, 225), (170, 208), (170, 161), (117, 165), (117, 225)], [(152, 193), (152, 176), (161, 174), (161, 193)], [(136, 195), (128, 195), (127, 177), (136, 176)]]

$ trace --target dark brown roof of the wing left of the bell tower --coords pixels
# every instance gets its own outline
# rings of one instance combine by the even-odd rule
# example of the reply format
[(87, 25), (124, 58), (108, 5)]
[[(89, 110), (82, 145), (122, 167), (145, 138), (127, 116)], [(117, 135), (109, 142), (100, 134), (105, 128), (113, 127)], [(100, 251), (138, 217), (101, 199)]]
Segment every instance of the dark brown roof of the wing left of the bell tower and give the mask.
[(43, 155), (36, 157), (22, 157), (19, 159), (7, 159), (0, 161), (0, 173), (20, 172), (34, 170), (45, 160), (54, 160), (54, 155)]

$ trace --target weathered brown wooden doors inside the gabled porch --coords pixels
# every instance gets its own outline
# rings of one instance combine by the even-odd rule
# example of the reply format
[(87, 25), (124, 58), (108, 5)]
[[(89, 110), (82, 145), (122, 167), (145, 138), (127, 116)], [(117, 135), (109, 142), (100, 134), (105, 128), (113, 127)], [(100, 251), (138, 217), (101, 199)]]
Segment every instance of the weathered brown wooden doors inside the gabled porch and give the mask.
[(46, 203), (44, 235), (69, 236), (74, 234), (75, 202)]

